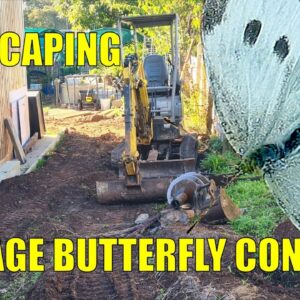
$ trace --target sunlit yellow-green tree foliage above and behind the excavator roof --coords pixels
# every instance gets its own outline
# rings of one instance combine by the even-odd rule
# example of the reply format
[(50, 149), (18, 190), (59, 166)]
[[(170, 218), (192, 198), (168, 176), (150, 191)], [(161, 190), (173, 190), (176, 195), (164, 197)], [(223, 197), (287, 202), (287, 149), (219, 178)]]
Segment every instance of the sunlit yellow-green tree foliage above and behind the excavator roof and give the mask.
[[(182, 52), (186, 51), (192, 39), (196, 45), (200, 38), (203, 0), (52, 0), (52, 2), (59, 16), (67, 18), (72, 29), (76, 30), (114, 26), (118, 17), (124, 15), (177, 13), (181, 25), (179, 36)], [(153, 38), (158, 53), (168, 53), (170, 48), (168, 28), (148, 28), (142, 33)]]

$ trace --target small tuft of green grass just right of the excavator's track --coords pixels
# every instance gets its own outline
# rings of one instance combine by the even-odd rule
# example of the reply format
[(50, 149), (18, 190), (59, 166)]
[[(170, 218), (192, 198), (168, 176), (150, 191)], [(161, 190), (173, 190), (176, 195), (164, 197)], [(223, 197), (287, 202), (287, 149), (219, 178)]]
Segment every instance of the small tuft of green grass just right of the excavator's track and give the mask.
[(213, 174), (233, 174), (241, 159), (233, 152), (227, 151), (223, 154), (208, 153), (202, 160), (201, 167)]

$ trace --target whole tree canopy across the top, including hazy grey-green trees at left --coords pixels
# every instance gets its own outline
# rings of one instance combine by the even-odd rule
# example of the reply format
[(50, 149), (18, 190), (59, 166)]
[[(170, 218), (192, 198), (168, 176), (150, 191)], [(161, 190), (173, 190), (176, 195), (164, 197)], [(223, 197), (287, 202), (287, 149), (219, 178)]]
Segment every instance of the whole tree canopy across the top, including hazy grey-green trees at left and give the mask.
[[(89, 30), (114, 26), (118, 17), (177, 13), (180, 18), (180, 45), (186, 52), (191, 41), (200, 39), (204, 0), (25, 0), (25, 26)], [(144, 30), (159, 52), (167, 52), (169, 32)], [(192, 50), (195, 52), (196, 47)]]

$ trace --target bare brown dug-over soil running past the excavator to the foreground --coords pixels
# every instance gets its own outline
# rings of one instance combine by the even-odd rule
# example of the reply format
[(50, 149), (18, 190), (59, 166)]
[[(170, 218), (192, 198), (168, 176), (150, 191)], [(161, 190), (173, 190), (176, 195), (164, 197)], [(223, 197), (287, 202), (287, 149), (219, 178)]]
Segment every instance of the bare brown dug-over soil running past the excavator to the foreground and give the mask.
[[(86, 122), (83, 117), (58, 120), (48, 116), (49, 130), (69, 128), (61, 145), (43, 167), (0, 184), (1, 241), (11, 237), (44, 237), (49, 241), (45, 245), (46, 271), (37, 280), (18, 287), (15, 298), (299, 299), (299, 282), (292, 282), (289, 287), (282, 283), (281, 274), (273, 280), (270, 275), (259, 271), (240, 274), (235, 270), (235, 242), (240, 236), (229, 225), (198, 224), (187, 234), (190, 224), (161, 227), (156, 222), (156, 230), (138, 234), (174, 239), (225, 237), (227, 246), (222, 272), (195, 272), (193, 260), (189, 262), (188, 272), (138, 272), (136, 269), (123, 272), (121, 252), (114, 253), (113, 272), (103, 272), (101, 268), (91, 273), (76, 268), (71, 272), (53, 272), (52, 239), (99, 236), (123, 230), (132, 227), (141, 213), (152, 217), (161, 209), (155, 203), (107, 206), (97, 202), (96, 180), (117, 178), (110, 165), (110, 152), (122, 140), (123, 120), (120, 117), (93, 120)], [(280, 238), (290, 233), (289, 230), (284, 232), (285, 228), (287, 225), (278, 228), (276, 234)], [(297, 232), (295, 234), (292, 237), (299, 237)], [(2, 272), (1, 286), (6, 286), (6, 289), (0, 289), (0, 293), (5, 293), (18, 276)]]

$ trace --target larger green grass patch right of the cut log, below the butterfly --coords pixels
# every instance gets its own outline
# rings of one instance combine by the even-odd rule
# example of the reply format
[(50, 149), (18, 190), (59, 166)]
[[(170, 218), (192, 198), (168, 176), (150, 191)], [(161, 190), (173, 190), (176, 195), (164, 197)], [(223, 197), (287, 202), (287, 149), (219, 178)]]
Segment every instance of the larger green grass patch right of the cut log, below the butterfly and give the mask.
[(258, 238), (270, 236), (284, 217), (263, 180), (238, 181), (226, 191), (238, 207), (245, 209), (244, 215), (231, 223), (240, 234)]

